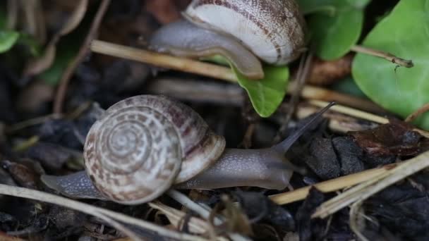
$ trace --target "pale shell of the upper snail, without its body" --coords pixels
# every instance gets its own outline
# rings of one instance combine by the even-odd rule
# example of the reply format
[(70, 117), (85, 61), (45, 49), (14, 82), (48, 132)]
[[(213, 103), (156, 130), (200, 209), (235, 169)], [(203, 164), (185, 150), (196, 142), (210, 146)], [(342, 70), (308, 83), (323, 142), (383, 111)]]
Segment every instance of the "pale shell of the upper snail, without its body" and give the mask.
[(289, 63), (306, 44), (294, 0), (193, 0), (184, 16), (236, 37), (267, 63)]

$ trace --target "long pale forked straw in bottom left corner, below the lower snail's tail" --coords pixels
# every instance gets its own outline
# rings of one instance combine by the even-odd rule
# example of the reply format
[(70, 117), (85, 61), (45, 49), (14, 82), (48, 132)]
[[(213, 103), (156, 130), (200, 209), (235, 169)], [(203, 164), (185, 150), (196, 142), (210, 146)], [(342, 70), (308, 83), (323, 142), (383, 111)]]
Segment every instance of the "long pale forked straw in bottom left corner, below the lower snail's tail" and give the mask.
[[(47, 202), (49, 204), (56, 204), (59, 206), (64, 206), (68, 209), (81, 211), (85, 214), (89, 214), (92, 216), (96, 216), (97, 218), (101, 218), (102, 220), (106, 221), (107, 223), (111, 224), (112, 226), (114, 226), (115, 228), (123, 232), (128, 229), (124, 228), (121, 224), (119, 224), (119, 222), (126, 223), (128, 225), (134, 225), (136, 227), (155, 232), (158, 235), (161, 235), (164, 237), (170, 237), (177, 240), (205, 240), (203, 237), (188, 235), (185, 233), (179, 233), (174, 230), (168, 230), (167, 228), (163, 228), (159, 225), (155, 225), (154, 223), (143, 221), (138, 218), (133, 218), (131, 216), (126, 216), (124, 214), (117, 213), (115, 211), (102, 209), (97, 206), (92, 206), (90, 204), (85, 204), (83, 202), (78, 202), (72, 199), (68, 199), (66, 197), (60, 197), (47, 192), (40, 192), (37, 190), (31, 190), (24, 187), (14, 187), (14, 186), (0, 184), (0, 194), (10, 195), (13, 197), (23, 197), (27, 199), (33, 199), (40, 202)], [(130, 231), (128, 230), (128, 232)], [(127, 233), (124, 232), (124, 233), (128, 235), (128, 232)]]

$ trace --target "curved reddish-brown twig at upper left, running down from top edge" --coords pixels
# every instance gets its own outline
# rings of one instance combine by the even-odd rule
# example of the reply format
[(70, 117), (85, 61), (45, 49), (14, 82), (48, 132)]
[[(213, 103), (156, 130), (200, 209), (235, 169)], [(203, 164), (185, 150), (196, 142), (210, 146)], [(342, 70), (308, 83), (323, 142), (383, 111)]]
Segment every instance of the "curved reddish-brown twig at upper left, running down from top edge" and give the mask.
[(90, 30), (78, 51), (78, 55), (73, 59), (73, 61), (71, 61), (71, 63), (68, 64), (66, 70), (64, 70), (61, 80), (59, 81), (59, 87), (56, 91), (56, 97), (54, 100), (54, 113), (61, 113), (63, 102), (66, 97), (68, 82), (73, 75), (75, 68), (78, 67), (79, 63), (83, 61), (83, 58), (85, 58), (85, 55), (89, 51), (90, 43), (92, 39), (95, 39), (95, 35), (97, 35), (97, 30), (102, 22), (104, 13), (107, 11), (109, 4), (110, 0), (103, 0), (101, 2), (97, 13), (95, 14), (95, 18), (92, 20)]

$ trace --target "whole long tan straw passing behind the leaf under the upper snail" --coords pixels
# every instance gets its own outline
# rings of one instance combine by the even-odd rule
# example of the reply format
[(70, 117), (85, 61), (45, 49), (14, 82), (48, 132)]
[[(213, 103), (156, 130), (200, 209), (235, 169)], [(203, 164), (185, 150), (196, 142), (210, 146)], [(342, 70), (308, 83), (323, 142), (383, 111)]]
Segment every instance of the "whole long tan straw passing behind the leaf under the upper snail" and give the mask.
[[(90, 49), (95, 53), (106, 54), (109, 56), (115, 56), (119, 58), (126, 58), (133, 61), (139, 61), (148, 63), (153, 66), (161, 68), (169, 68), (173, 70), (180, 70), (187, 73), (194, 73), (198, 75), (207, 76), (210, 78), (216, 78), (219, 80), (225, 80), (228, 82), (237, 82), (236, 75), (230, 68), (223, 66), (217, 66), (212, 63), (204, 63), (201, 61), (195, 61), (189, 58), (179, 58), (175, 56), (169, 56), (167, 54), (158, 54), (152, 51), (144, 49), (137, 49), (133, 47), (126, 47), (119, 44), (112, 44), (101, 40), (93, 40)], [(289, 94), (296, 91), (296, 85), (294, 82), (288, 87)], [(348, 106), (354, 106), (358, 109), (365, 111), (379, 112), (384, 111), (379, 106), (373, 104), (371, 101), (365, 99), (351, 97), (346, 94), (333, 92), (328, 89), (320, 87), (313, 87), (305, 85), (301, 92), (301, 97), (306, 99), (320, 99), (324, 101), (337, 101), (338, 103), (346, 104)]]

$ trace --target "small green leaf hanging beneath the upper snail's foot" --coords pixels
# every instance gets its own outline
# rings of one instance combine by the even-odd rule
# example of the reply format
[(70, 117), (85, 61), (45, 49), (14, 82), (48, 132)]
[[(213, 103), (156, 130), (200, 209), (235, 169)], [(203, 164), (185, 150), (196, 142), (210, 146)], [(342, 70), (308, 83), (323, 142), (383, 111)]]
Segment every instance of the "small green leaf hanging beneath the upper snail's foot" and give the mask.
[(238, 83), (246, 89), (255, 111), (262, 117), (269, 117), (277, 110), (286, 94), (289, 82), (289, 68), (286, 66), (264, 66), (265, 78), (249, 80), (239, 73), (234, 66)]

